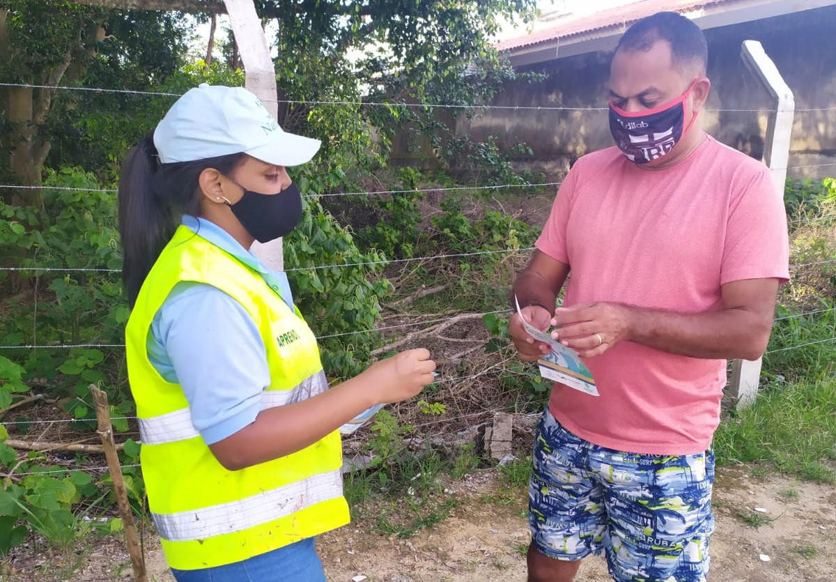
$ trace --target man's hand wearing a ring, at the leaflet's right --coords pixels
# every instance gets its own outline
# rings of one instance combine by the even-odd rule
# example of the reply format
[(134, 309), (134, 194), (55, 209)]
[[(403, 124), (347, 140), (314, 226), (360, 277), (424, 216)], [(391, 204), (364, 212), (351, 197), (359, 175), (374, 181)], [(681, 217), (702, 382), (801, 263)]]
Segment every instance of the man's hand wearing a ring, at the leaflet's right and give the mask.
[(624, 339), (630, 339), (632, 317), (627, 305), (587, 303), (555, 309), (551, 324), (559, 329), (554, 339), (583, 358), (601, 355)]

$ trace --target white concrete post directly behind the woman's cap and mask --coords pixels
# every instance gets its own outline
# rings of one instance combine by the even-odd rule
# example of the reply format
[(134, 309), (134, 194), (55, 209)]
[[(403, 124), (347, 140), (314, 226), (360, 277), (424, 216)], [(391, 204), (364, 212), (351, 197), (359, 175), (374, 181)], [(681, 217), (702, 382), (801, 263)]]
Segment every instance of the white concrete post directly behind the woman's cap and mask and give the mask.
[[(227, 6), (232, 34), (235, 35), (244, 64), (244, 84), (278, 119), (276, 72), (273, 69), (273, 59), (270, 58), (267, 35), (264, 34), (256, 7), (252, 0), (224, 0), (223, 3)], [(268, 267), (277, 270), (284, 268), (281, 238), (265, 244), (253, 242), (250, 250)]]

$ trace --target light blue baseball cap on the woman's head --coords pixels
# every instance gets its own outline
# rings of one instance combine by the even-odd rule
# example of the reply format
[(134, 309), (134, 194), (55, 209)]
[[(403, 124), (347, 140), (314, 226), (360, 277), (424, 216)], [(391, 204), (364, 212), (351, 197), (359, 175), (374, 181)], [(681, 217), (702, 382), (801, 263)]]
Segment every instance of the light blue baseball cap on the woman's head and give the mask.
[(203, 83), (176, 100), (154, 130), (163, 164), (245, 153), (276, 166), (299, 166), (319, 151), (319, 140), (283, 131), (258, 98), (243, 87)]

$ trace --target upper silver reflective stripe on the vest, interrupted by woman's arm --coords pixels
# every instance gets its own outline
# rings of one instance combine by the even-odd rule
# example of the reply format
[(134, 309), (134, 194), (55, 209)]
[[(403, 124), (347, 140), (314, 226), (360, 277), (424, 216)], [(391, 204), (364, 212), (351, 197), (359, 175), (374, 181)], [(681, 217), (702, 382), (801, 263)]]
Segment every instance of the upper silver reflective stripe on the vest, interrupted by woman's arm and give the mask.
[[(267, 410), (275, 406), (284, 406), (307, 400), (327, 389), (328, 379), (325, 377), (325, 373), (320, 371), (305, 378), (293, 390), (263, 392), (261, 408)], [(145, 445), (186, 441), (196, 436), (201, 436), (201, 433), (191, 424), (191, 409), (187, 407), (160, 416), (140, 418), (140, 439)]]

